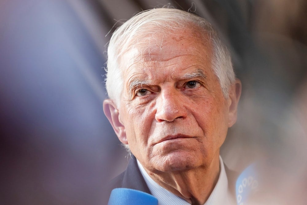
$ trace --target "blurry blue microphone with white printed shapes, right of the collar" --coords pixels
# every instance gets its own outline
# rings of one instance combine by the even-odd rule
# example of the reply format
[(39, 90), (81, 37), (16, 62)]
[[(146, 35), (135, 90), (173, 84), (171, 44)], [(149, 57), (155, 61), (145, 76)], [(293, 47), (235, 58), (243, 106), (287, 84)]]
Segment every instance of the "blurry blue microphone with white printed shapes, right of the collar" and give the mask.
[(238, 205), (248, 203), (258, 188), (258, 172), (256, 163), (248, 166), (239, 175), (235, 183), (236, 199)]

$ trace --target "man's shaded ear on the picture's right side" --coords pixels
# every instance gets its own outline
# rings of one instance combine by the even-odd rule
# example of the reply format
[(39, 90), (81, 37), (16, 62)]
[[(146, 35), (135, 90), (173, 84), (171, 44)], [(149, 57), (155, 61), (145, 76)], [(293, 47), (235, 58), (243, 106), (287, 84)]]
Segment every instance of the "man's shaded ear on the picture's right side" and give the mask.
[(242, 85), (239, 79), (236, 79), (235, 83), (231, 85), (229, 89), (229, 116), (228, 127), (231, 127), (237, 121), (238, 103), (241, 96)]

